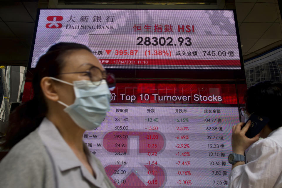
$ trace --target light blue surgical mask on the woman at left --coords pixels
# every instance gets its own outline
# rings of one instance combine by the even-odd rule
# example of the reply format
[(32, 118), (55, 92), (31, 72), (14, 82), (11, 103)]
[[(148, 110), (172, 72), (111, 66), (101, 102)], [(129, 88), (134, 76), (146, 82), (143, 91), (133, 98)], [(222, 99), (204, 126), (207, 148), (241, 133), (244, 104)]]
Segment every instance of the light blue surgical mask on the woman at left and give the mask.
[(64, 111), (79, 127), (84, 130), (93, 130), (100, 126), (106, 112), (110, 110), (110, 90), (105, 80), (102, 80), (100, 85), (95, 85), (90, 80), (78, 80), (72, 84), (58, 78), (50, 78), (73, 85), (74, 103), (69, 106), (59, 100), (58, 103), (66, 107)]

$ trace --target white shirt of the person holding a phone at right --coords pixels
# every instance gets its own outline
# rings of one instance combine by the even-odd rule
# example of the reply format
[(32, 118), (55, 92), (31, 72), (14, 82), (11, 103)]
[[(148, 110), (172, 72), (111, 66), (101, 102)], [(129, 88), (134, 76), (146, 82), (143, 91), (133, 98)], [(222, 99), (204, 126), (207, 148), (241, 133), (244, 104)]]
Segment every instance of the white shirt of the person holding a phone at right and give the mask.
[(255, 142), (246, 154), (248, 163), (235, 167), (229, 187), (282, 187), (282, 127)]

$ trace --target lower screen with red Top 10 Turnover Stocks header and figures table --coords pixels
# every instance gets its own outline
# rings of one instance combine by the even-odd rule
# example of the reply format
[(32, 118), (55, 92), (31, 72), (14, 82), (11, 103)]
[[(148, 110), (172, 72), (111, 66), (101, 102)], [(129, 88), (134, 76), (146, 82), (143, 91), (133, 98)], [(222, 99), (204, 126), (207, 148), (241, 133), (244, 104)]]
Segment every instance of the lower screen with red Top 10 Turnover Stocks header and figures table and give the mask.
[(228, 187), (238, 122), (235, 84), (118, 83), (83, 140), (118, 188)]

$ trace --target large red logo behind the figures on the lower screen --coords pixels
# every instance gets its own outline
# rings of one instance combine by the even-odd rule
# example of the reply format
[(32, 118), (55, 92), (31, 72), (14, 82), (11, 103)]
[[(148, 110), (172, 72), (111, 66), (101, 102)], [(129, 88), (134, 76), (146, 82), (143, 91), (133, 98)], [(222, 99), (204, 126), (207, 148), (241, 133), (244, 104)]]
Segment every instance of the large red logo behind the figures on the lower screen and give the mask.
[[(113, 140), (115, 135), (128, 135), (128, 137)], [(103, 146), (108, 152), (120, 154), (126, 152), (126, 155), (130, 155), (132, 153), (129, 153), (128, 150), (128, 145), (130, 144), (129, 137), (137, 137), (139, 140), (139, 148), (135, 150), (137, 152), (136, 155), (157, 156), (165, 147), (165, 138), (160, 132), (143, 132), (138, 130), (108, 132), (103, 138)], [(156, 143), (154, 147), (152, 147), (153, 141)], [(127, 147), (116, 147), (116, 145), (126, 145)], [(108, 164), (105, 167), (105, 171), (117, 188), (163, 187), (167, 177), (165, 169), (160, 164), (153, 165), (149, 164), (149, 162), (137, 162), (137, 165), (133, 164), (133, 167), (126, 164)], [(124, 172), (127, 173), (123, 176), (122, 173)]]

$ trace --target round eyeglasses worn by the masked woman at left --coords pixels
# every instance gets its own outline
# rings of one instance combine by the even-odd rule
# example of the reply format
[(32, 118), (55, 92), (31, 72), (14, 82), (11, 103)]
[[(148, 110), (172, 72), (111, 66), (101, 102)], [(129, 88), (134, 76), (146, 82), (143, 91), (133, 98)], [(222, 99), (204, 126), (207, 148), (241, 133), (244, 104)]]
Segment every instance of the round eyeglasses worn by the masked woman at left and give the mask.
[(77, 74), (77, 73), (85, 73), (94, 85), (100, 85), (102, 80), (106, 80), (108, 87), (110, 89), (115, 88), (115, 75), (112, 73), (107, 73), (106, 71), (102, 71), (100, 68), (92, 66), (89, 71), (83, 72), (71, 72), (71, 73), (60, 73), (60, 74)]

